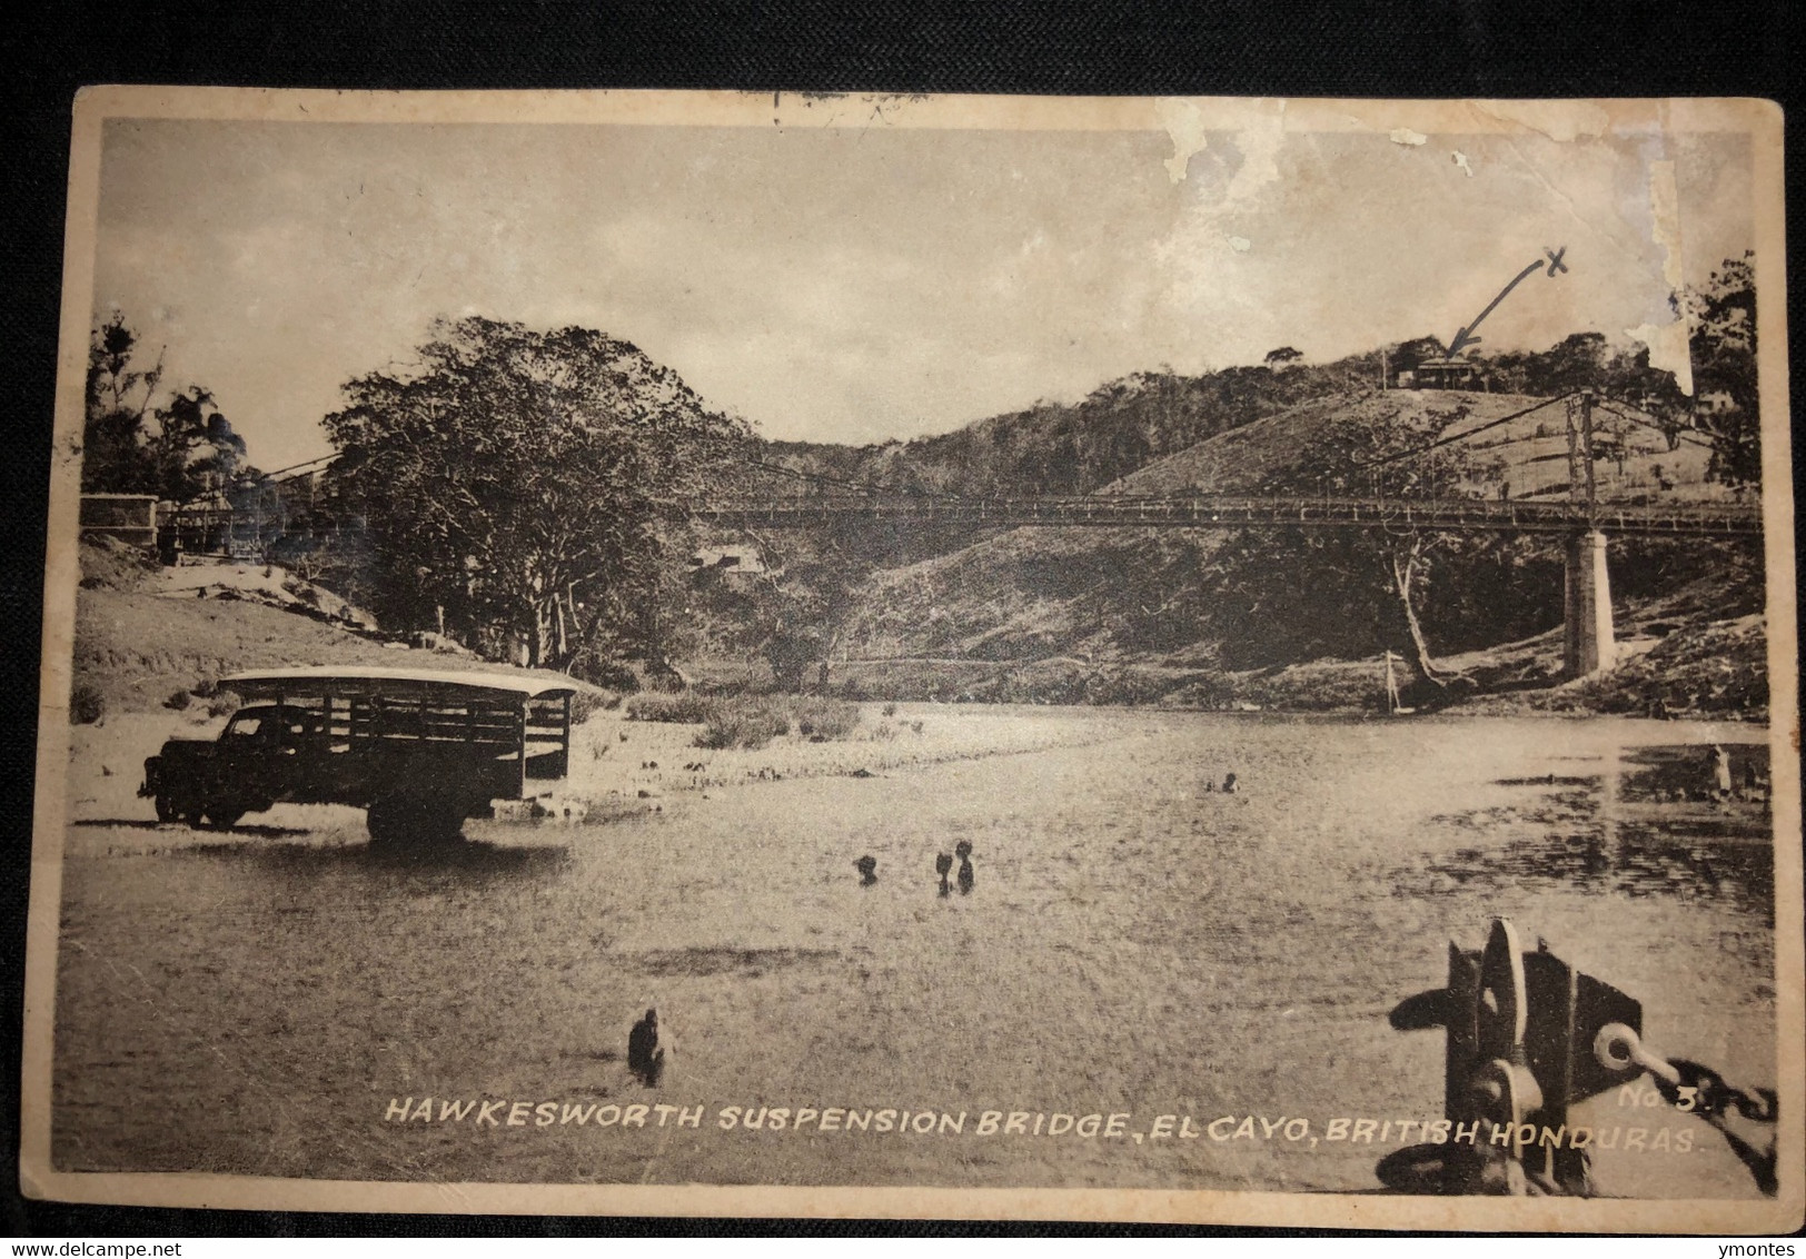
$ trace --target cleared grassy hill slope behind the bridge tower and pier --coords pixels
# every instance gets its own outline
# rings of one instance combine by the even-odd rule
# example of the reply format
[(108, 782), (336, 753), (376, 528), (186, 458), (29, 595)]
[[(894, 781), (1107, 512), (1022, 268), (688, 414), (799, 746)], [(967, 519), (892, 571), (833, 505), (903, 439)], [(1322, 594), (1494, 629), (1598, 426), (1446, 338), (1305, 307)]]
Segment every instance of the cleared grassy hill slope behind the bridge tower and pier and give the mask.
[[(1100, 493), (1297, 488), (1299, 468), (1326, 434), (1398, 426), (1423, 443), (1443, 435), (1447, 444), (1432, 457), (1459, 461), (1463, 493), (1548, 499), (1568, 491), (1568, 428), (1566, 405), (1531, 410), (1542, 401), (1414, 390), (1318, 397), (1154, 461)], [(1705, 479), (1703, 446), (1680, 441), (1671, 450), (1647, 417), (1618, 412), (1595, 415), (1606, 455), (1595, 464), (1602, 499), (1730, 493)], [(1385, 542), (1286, 529), (1013, 529), (870, 573), (842, 627), (849, 661), (842, 676), (898, 695), (1286, 706), (1342, 706), (1358, 695), (1371, 703), (1378, 694), (1374, 667), (1354, 670), (1349, 692), (1331, 667), (1309, 663), (1407, 650)], [(1714, 638), (1716, 620), (1761, 609), (1759, 555), (1743, 544), (1620, 538), (1613, 542), (1613, 583), (1620, 636), (1647, 639), (1629, 654), (1676, 636), (1654, 659), (1692, 659), (1699, 652), (1689, 636)], [(1681, 591), (1689, 598), (1678, 600)], [(1559, 542), (1479, 536), (1438, 544), (1418, 600), (1430, 643), (1457, 656), (1454, 668), (1470, 683), (1550, 686), (1559, 677)], [(1759, 630), (1754, 639), (1748, 632), (1714, 638), (1736, 656), (1730, 665), (1739, 677), (1754, 670), (1766, 679), (1759, 639)], [(1609, 688), (1600, 686), (1586, 695), (1613, 710), (1636, 708), (1643, 692), (1660, 690), (1656, 681), (1643, 677), (1609, 699)], [(1728, 690), (1701, 683), (1669, 706), (1748, 713), (1752, 694), (1743, 683)], [(1591, 701), (1569, 695), (1564, 703)]]

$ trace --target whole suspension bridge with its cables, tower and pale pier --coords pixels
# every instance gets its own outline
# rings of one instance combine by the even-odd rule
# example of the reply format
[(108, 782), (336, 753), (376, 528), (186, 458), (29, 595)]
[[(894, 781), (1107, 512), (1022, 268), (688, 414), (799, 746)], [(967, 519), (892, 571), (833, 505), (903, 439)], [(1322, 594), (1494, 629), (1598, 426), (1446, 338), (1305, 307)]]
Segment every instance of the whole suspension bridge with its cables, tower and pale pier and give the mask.
[[(1454, 397), (1454, 396), (1452, 396)], [(1528, 417), (1566, 405), (1560, 426)], [(1611, 417), (1597, 423), (1597, 410)], [(1660, 432), (1662, 443), (1651, 437)], [(1607, 536), (1739, 538), (1763, 533), (1755, 499), (1730, 497), (1707, 486), (1705, 457), (1712, 443), (1698, 432), (1662, 424), (1595, 390), (1537, 399), (1506, 415), (1376, 459), (1380, 468), (1405, 459), (1436, 459), (1443, 446), (1513, 448), (1512, 479), (1497, 495), (1470, 493), (1414, 499), (1383, 493), (1091, 493), (1091, 495), (957, 495), (912, 493), (894, 486), (840, 480), (760, 459), (744, 459), (766, 473), (805, 482), (804, 491), (742, 491), (712, 502), (672, 504), (690, 520), (731, 529), (813, 529), (843, 522), (917, 527), (1111, 527), (1111, 529), (1362, 529), (1382, 533), (1553, 535), (1566, 540), (1564, 667), (1580, 677), (1615, 659)], [(318, 468), (336, 455), (298, 464)], [(294, 470), (282, 470), (294, 471)], [(265, 477), (244, 502), (191, 504), (168, 515), (148, 497), (88, 495), (83, 527), (98, 533), (139, 533), (172, 551), (253, 555), (271, 536), (300, 536), (282, 495), (264, 499), (282, 477)], [(1685, 484), (1681, 484), (1685, 482)], [(311, 482), (309, 482), (311, 484)], [(1378, 477), (1374, 479), (1378, 484)], [(1513, 493), (1515, 490), (1515, 493)], [(130, 502), (101, 502), (132, 499)], [(148, 517), (139, 520), (137, 511)], [(90, 518), (92, 517), (92, 518)], [(128, 518), (130, 517), (130, 518)], [(338, 522), (332, 524), (338, 529)]]

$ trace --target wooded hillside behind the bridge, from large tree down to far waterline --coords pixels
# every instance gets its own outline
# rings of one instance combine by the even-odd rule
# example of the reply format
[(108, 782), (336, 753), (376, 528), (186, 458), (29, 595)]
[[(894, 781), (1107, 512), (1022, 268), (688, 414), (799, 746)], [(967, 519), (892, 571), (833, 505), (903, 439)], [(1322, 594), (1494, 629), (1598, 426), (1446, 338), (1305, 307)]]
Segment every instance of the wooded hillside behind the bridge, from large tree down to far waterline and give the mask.
[[(1609, 379), (1616, 365), (1622, 390), (1647, 383), (1602, 341), (1571, 338), (1548, 358), (1555, 367), (1521, 365), (1519, 378), (1560, 387)], [(945, 437), (771, 450), (825, 477), (930, 493), (1513, 500), (1569, 493), (1568, 423), (1577, 403), (1560, 399), (1566, 388), (1551, 396), (1380, 390), (1360, 383), (1358, 367), (1138, 376), (1076, 406), (1001, 415)], [(1663, 432), (1622, 392), (1606, 397), (1593, 421), (1591, 473), (1602, 500), (1745, 493), (1710, 477), (1707, 441)], [(1416, 455), (1432, 443), (1434, 452)], [(793, 490), (809, 491), (802, 482)], [(1358, 708), (1383, 697), (1382, 654), (1412, 657), (1418, 638), (1420, 659), (1436, 672), (1407, 667), (1403, 676), (1407, 695), (1429, 704), (1483, 694), (1530, 704), (1533, 692), (1550, 692), (1546, 706), (1757, 715), (1766, 694), (1761, 627), (1730, 636), (1714, 629), (1761, 611), (1754, 544), (1613, 540), (1627, 663), (1624, 685), (1611, 690), (1557, 688), (1555, 538), (1033, 527), (966, 531), (925, 546), (894, 531), (878, 535), (842, 527), (762, 538), (784, 569), (766, 585), (798, 594), (800, 614), (824, 621), (818, 643), (851, 694)], [(1403, 580), (1394, 567), (1401, 558), (1409, 558)], [(1409, 614), (1401, 585), (1410, 591)], [(1680, 598), (1687, 607), (1676, 603), (1680, 592), (1690, 592), (1690, 602)], [(782, 607), (782, 596), (771, 598)], [(701, 605), (706, 621), (708, 591)], [(1662, 650), (1633, 663), (1652, 641)], [(1707, 677), (1665, 692), (1656, 685), (1662, 661), (1716, 650), (1730, 654), (1736, 685)]]

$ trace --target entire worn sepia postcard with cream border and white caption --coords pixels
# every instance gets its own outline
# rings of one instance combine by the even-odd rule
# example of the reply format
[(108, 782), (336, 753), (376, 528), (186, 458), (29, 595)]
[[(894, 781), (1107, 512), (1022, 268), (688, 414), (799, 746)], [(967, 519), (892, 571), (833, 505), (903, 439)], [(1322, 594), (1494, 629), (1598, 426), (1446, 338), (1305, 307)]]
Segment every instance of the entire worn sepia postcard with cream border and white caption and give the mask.
[(1801, 1226), (1781, 130), (85, 90), (23, 1190)]

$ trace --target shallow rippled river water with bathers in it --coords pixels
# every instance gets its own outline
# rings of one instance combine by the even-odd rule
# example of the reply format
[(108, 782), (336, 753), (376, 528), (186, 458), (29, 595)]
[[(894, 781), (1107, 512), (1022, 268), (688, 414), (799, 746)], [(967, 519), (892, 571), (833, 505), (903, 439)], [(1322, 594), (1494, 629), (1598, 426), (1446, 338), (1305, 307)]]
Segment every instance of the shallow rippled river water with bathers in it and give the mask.
[[(1642, 1001), (1652, 1048), (1775, 1080), (1773, 844), (1761, 793), (1743, 791), (1766, 779), (1763, 728), (912, 712), (1080, 737), (681, 793), (607, 824), (479, 824), (437, 862), (372, 854), (329, 809), (229, 836), (74, 825), (60, 1163), (1367, 1190), (1398, 1142), (1329, 1142), (1329, 1124), (1441, 1114), (1439, 1031), (1394, 1031), (1387, 1013), (1439, 988), (1448, 941), (1479, 948), (1499, 916)], [(1712, 798), (1714, 742), (1750, 798)], [(1237, 791), (1214, 789), (1230, 773)], [(934, 858), (961, 842), (972, 887), (955, 874), (943, 896)], [(623, 1062), (647, 1006), (670, 1048), (657, 1089)], [(385, 1118), (424, 1096), (704, 1118)], [(121, 1098), (155, 1098), (155, 1116), (121, 1114)], [(726, 1127), (728, 1107), (766, 1125)], [(769, 1129), (775, 1109), (829, 1107), (966, 1120)], [(977, 1136), (986, 1111), (1129, 1118), (1116, 1140)], [(1159, 1116), (1192, 1133), (1302, 1118), (1326, 1140), (1165, 1138)], [(1602, 1189), (1754, 1192), (1705, 1149), (1716, 1136), (1690, 1140), (1685, 1158), (1602, 1156)]]

